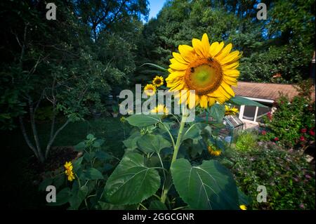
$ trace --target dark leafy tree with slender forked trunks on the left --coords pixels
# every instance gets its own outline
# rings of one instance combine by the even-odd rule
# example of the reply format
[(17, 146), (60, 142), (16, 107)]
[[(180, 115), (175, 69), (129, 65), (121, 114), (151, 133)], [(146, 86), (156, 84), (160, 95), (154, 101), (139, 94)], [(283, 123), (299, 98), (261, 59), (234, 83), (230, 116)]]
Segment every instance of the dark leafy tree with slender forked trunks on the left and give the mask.
[[(3, 36), (8, 44), (1, 48), (1, 55), (8, 55), (1, 60), (0, 91), (5, 93), (0, 101), (1, 129), (12, 129), (18, 119), (27, 145), (40, 162), (48, 158), (56, 136), (67, 124), (84, 119), (91, 107), (105, 110), (103, 98), (110, 93), (111, 85), (123, 84), (135, 67), (128, 41), (114, 34), (119, 30), (115, 22), (123, 18), (111, 19), (108, 24), (112, 31), (100, 27), (98, 39), (93, 39), (91, 27), (80, 22), (74, 2), (55, 4), (58, 20), (46, 20), (43, 1), (5, 1), (0, 14), (1, 22), (8, 24), (1, 26), (6, 27)], [(129, 10), (136, 13), (138, 6), (132, 1), (126, 4), (124, 18), (130, 21), (127, 16), (132, 18), (133, 13)], [(141, 10), (138, 12), (141, 14)], [(121, 52), (129, 56), (124, 58)], [(44, 144), (37, 133), (37, 111), (47, 105), (53, 116)], [(65, 117), (60, 126), (55, 122), (58, 114)], [(25, 128), (27, 121), (32, 135)]]

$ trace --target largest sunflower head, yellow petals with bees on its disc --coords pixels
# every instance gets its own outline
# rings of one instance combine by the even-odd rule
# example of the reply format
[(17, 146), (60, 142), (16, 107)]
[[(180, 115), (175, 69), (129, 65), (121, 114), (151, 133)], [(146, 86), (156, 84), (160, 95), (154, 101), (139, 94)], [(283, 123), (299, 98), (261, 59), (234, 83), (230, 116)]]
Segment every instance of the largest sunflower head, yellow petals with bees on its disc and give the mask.
[[(206, 108), (216, 101), (220, 104), (235, 96), (231, 86), (237, 85), (239, 71), (239, 51), (232, 51), (232, 44), (224, 47), (224, 42), (209, 44), (207, 34), (202, 41), (192, 39), (192, 46), (180, 45), (180, 53), (173, 52), (170, 60), (169, 77), (166, 78), (169, 91), (187, 90), (176, 93), (179, 103), (186, 100), (190, 108), (200, 105)], [(195, 90), (190, 93), (189, 90)], [(185, 91), (184, 91), (185, 92)], [(190, 102), (190, 94), (195, 96), (195, 105)]]

